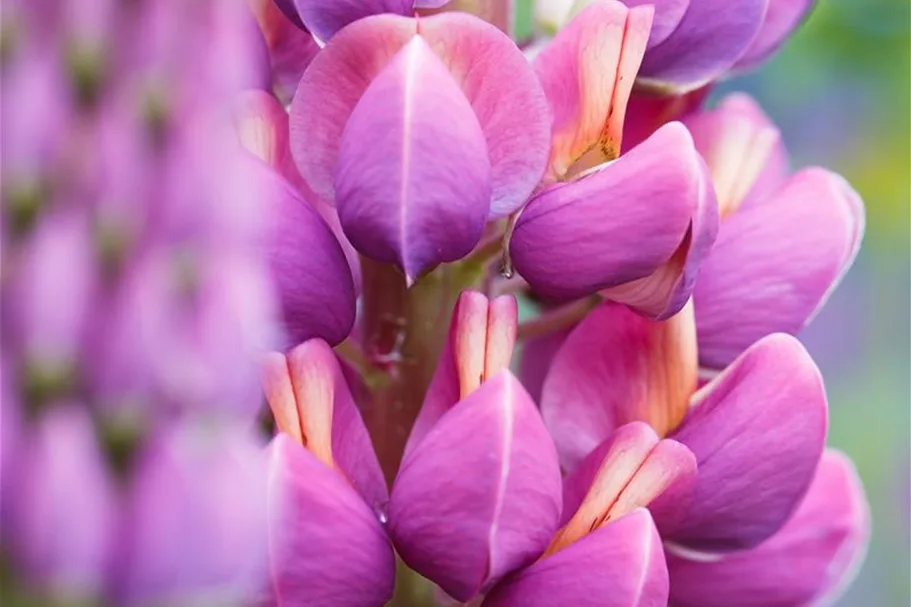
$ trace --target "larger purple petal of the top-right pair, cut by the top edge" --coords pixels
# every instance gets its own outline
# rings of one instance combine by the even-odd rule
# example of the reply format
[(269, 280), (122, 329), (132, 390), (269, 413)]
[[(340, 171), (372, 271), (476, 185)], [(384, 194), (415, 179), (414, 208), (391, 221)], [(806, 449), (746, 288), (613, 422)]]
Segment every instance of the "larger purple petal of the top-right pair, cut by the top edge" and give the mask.
[(692, 1), (677, 29), (649, 49), (639, 81), (685, 93), (717, 79), (747, 50), (769, 0)]

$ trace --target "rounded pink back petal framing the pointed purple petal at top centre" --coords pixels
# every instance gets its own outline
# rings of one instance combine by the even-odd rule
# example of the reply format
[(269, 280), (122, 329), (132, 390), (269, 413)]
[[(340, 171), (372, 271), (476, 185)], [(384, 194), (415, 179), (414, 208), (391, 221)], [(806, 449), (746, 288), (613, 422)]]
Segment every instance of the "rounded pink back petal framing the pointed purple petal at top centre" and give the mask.
[[(507, 215), (527, 200), (544, 172), (550, 112), (515, 44), (496, 27), (465, 13), (447, 12), (419, 22), (377, 15), (333, 38), (304, 73), (291, 104), (298, 169), (317, 194), (333, 199), (339, 140), (348, 117), (374, 77), (418, 31), (471, 102), (493, 171), (491, 215)], [(321, 110), (313, 112), (313, 107)]]

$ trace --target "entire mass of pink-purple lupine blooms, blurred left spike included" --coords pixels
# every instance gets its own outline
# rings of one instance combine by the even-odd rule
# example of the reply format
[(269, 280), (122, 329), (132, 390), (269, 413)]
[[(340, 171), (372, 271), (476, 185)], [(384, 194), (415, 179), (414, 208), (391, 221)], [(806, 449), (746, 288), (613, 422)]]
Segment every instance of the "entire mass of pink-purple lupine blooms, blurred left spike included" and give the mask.
[(795, 335), (863, 205), (792, 173), (749, 97), (706, 104), (811, 7), (5, 11), (2, 548), (24, 586), (835, 596), (868, 514)]

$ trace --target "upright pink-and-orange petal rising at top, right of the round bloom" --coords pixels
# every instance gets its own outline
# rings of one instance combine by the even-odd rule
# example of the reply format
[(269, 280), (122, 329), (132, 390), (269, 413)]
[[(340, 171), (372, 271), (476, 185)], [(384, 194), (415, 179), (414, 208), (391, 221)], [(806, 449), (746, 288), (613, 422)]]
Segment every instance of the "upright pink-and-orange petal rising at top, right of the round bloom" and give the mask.
[[(653, 9), (597, 2), (534, 59), (553, 112), (545, 183), (620, 155), (623, 116), (648, 40)], [(576, 167), (585, 156), (584, 164)]]

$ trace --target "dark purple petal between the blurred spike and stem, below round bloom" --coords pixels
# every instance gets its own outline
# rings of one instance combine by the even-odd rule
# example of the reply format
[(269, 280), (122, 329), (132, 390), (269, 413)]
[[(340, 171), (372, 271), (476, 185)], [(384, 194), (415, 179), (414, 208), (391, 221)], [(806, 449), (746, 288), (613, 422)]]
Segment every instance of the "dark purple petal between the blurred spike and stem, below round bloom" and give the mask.
[[(265, 171), (264, 171), (265, 173)], [(268, 189), (264, 241), (282, 306), (288, 343), (320, 337), (337, 344), (354, 324), (355, 294), (345, 254), (329, 226), (277, 175)]]

